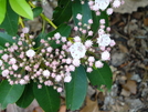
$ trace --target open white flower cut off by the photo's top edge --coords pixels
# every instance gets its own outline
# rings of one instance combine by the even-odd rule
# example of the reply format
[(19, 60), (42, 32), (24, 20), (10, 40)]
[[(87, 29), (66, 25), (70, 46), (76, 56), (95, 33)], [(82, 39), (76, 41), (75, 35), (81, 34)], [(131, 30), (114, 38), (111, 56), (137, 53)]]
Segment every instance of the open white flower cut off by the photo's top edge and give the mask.
[(95, 6), (98, 6), (99, 9), (105, 10), (109, 6), (110, 0), (95, 0)]

